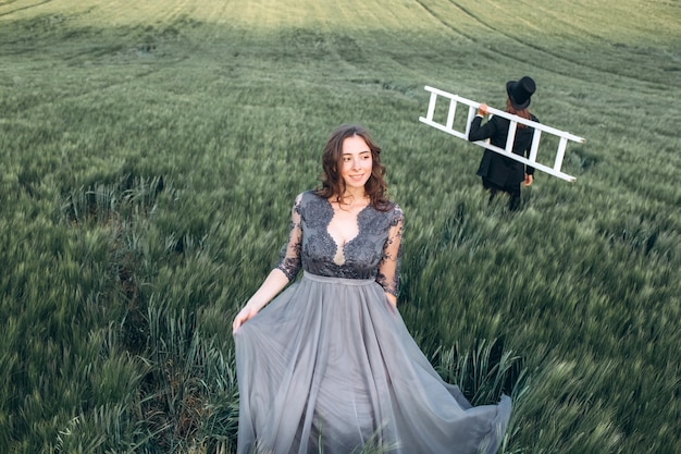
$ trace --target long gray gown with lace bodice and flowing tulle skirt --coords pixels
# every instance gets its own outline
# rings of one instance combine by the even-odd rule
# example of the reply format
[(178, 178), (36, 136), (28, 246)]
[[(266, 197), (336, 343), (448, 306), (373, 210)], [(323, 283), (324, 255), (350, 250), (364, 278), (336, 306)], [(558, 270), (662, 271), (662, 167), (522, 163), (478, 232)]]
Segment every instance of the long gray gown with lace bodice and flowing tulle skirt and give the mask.
[(277, 268), (304, 275), (235, 333), (238, 453), (495, 453), (509, 397), (472, 407), (385, 296), (397, 293), (400, 208), (364, 208), (340, 247), (333, 213), (312, 192), (296, 198)]

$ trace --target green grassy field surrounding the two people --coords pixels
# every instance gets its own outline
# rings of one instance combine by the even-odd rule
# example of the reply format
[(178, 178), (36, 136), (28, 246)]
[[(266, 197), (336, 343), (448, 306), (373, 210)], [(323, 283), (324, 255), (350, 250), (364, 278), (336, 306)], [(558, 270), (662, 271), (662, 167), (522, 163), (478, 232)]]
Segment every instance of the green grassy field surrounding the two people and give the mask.
[[(525, 74), (586, 142), (510, 213), (418, 119)], [(0, 0), (0, 453), (234, 452), (232, 318), (350, 122), (405, 321), (512, 392), (505, 453), (681, 452), (680, 99), (678, 1)]]

